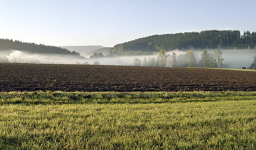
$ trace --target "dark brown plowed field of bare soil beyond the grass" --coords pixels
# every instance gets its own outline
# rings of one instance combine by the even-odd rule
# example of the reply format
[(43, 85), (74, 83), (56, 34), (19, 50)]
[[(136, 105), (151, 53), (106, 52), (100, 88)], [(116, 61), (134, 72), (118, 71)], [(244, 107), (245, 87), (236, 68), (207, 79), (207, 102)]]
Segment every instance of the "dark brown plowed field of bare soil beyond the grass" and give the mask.
[(0, 63), (0, 91), (256, 91), (256, 72)]

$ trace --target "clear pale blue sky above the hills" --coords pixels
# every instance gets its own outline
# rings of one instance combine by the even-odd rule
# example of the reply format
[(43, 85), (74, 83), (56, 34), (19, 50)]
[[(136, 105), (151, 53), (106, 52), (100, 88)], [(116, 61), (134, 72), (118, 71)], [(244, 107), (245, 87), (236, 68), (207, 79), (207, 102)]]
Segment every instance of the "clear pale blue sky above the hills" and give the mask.
[(256, 31), (256, 0), (0, 0), (0, 38), (113, 47), (150, 35)]

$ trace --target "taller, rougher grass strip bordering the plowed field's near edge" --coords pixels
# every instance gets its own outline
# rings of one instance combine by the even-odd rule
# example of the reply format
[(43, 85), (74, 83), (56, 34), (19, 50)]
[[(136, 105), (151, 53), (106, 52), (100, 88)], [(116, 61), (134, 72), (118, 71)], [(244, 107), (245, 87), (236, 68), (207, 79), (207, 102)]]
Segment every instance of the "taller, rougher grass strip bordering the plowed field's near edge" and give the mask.
[(239, 101), (256, 92), (0, 92), (0, 104), (150, 104), (166, 102)]

